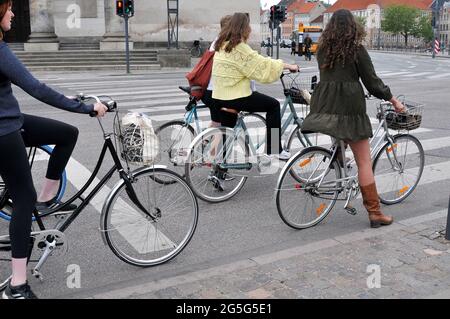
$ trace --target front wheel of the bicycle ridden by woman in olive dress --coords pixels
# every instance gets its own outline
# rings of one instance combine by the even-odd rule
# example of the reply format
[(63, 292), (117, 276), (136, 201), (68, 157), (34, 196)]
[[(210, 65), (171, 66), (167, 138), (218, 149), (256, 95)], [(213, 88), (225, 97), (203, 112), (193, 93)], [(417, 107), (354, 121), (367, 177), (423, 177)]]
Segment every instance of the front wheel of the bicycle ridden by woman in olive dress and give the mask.
[(386, 205), (404, 201), (417, 187), (424, 165), (425, 154), (417, 138), (394, 136), (394, 144), (386, 143), (373, 162), (380, 201)]

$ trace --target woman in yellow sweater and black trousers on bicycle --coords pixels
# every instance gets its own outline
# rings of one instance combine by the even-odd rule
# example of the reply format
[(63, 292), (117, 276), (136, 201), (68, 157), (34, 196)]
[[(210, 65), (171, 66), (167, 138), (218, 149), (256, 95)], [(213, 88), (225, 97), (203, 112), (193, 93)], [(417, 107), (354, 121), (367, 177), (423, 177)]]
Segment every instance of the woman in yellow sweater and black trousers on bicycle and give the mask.
[[(262, 93), (252, 92), (250, 83), (251, 80), (275, 82), (280, 79), (284, 69), (297, 72), (298, 66), (263, 57), (252, 50), (247, 44), (250, 33), (250, 18), (246, 13), (235, 13), (221, 30), (215, 46), (212, 97), (220, 109), (266, 112), (266, 152), (280, 153), (280, 159), (288, 159), (290, 154), (281, 148), (280, 102)], [(232, 114), (231, 118), (227, 114), (221, 118), (222, 125), (233, 127), (236, 119), (236, 114)], [(272, 139), (272, 135), (277, 136), (276, 140)]]

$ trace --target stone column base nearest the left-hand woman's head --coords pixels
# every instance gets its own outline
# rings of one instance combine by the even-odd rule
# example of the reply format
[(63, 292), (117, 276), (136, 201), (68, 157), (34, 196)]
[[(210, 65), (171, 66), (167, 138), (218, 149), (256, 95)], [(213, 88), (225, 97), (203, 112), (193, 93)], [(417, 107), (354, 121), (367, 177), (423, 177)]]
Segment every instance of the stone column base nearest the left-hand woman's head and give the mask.
[(54, 0), (30, 0), (31, 35), (25, 51), (58, 51), (59, 42), (53, 21)]

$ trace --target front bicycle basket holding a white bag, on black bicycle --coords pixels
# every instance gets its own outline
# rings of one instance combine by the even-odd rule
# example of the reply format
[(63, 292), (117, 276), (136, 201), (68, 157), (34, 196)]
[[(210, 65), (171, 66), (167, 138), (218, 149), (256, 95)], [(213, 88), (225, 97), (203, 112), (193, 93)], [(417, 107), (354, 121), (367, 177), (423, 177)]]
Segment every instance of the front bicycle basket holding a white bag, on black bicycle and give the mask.
[(118, 139), (120, 156), (127, 163), (149, 166), (159, 160), (159, 140), (146, 115), (126, 114), (122, 118)]

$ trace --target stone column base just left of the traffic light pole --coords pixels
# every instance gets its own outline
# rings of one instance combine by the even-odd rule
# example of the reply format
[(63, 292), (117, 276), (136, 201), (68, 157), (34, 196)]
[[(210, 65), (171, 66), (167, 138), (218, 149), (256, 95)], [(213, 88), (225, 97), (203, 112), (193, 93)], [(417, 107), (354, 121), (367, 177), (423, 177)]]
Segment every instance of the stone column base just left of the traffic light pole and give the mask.
[[(130, 23), (131, 19), (128, 20)], [(105, 28), (106, 33), (100, 42), (100, 50), (125, 50), (125, 20), (116, 15), (116, 1), (105, 0)], [(130, 30), (130, 28), (128, 28)], [(130, 40), (130, 50), (133, 42)]]

